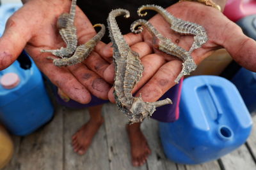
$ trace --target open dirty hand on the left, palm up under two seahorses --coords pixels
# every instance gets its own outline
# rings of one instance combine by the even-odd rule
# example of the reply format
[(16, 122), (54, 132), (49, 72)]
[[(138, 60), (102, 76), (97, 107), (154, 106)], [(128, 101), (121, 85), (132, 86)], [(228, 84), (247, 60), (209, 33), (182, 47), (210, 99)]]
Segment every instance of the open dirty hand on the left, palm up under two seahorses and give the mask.
[[(71, 1), (31, 0), (10, 17), (3, 37), (0, 38), (0, 69), (10, 66), (25, 48), (36, 66), (67, 96), (79, 103), (89, 103), (90, 93), (108, 99), (109, 84), (100, 76), (109, 63), (99, 53), (92, 52), (86, 62), (76, 66), (56, 67), (47, 57), (51, 53), (41, 53), (42, 49), (59, 49), (65, 46), (56, 21), (61, 13), (68, 13)], [(88, 18), (78, 7), (75, 25), (79, 45), (91, 39), (95, 30)], [(104, 43), (96, 46), (97, 51)]]

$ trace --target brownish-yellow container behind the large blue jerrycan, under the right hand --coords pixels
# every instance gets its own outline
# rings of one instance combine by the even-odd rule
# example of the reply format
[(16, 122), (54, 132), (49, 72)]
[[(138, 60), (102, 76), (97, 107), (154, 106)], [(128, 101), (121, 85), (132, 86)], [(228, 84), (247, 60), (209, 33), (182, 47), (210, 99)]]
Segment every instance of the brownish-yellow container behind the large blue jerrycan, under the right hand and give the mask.
[(209, 57), (204, 59), (196, 70), (191, 72), (190, 76), (196, 75), (220, 75), (224, 71), (225, 67), (230, 64), (232, 57), (225, 49), (217, 50)]

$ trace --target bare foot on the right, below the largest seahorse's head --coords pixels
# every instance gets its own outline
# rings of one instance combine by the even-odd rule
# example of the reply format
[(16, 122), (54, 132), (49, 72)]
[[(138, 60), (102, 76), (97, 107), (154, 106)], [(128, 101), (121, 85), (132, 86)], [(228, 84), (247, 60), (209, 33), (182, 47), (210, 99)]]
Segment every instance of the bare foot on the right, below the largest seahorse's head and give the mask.
[(145, 164), (151, 150), (147, 139), (140, 130), (140, 124), (127, 125), (127, 132), (131, 143), (132, 165), (142, 166)]

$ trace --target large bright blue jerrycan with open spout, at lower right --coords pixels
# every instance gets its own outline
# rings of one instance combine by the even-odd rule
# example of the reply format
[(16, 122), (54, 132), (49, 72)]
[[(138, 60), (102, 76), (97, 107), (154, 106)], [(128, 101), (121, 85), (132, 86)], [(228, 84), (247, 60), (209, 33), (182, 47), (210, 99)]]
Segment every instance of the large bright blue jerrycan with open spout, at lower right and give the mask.
[(236, 87), (219, 76), (186, 78), (180, 117), (159, 123), (164, 153), (180, 164), (200, 164), (232, 152), (252, 129), (252, 118)]

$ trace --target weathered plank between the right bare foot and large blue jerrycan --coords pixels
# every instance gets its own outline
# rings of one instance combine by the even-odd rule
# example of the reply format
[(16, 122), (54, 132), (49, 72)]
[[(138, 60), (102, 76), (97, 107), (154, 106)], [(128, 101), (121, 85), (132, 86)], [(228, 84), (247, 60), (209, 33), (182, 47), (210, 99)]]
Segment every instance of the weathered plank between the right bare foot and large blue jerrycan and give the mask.
[(149, 170), (177, 169), (174, 162), (166, 159), (158, 132), (158, 122), (152, 118), (146, 119), (141, 124), (141, 130), (148, 139), (148, 145), (151, 148), (151, 155), (147, 159)]

